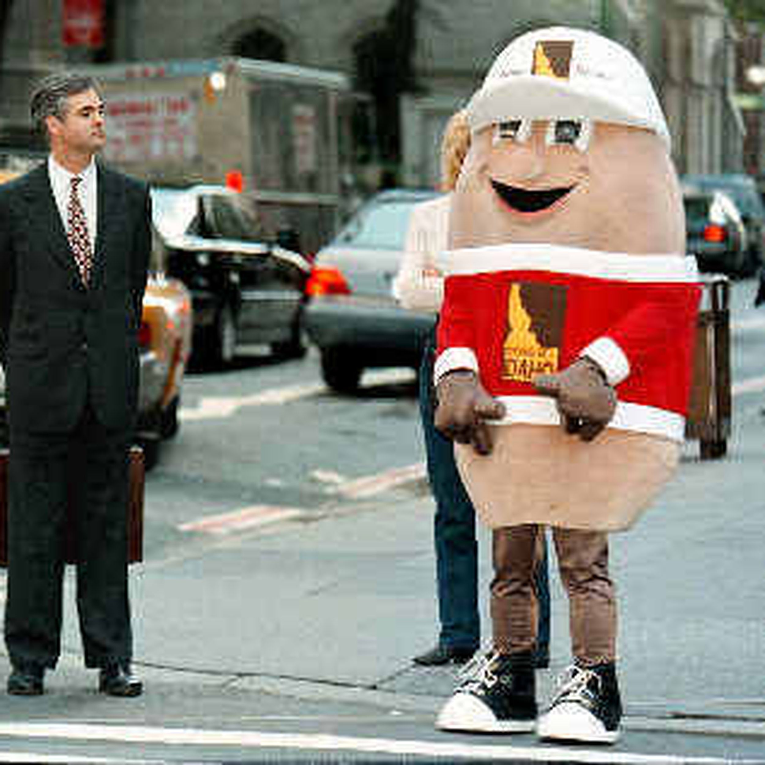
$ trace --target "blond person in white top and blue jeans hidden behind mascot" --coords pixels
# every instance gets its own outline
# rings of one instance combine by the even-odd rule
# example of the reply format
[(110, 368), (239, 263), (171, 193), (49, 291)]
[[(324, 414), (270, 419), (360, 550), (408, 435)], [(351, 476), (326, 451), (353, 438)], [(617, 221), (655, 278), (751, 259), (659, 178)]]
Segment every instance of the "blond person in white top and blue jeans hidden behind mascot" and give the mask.
[[(438, 254), (447, 248), (451, 192), (457, 183), (462, 161), (470, 147), (470, 128), (464, 112), (449, 120), (441, 141), (441, 188), (446, 192), (418, 204), (412, 211), (405, 255), (393, 288), (406, 307), (438, 313), (443, 300), (443, 278)], [(478, 610), (478, 545), (473, 503), (467, 496), (457, 465), (454, 444), (435, 429), (433, 360), (435, 330), (428, 337), (419, 374), (419, 402), (428, 480), (436, 509), (434, 519), (438, 618), (438, 643), (415, 663), (433, 666), (463, 663), (480, 646)], [(550, 597), (546, 545), (542, 544), (535, 569), (538, 601), (536, 666), (549, 665)]]

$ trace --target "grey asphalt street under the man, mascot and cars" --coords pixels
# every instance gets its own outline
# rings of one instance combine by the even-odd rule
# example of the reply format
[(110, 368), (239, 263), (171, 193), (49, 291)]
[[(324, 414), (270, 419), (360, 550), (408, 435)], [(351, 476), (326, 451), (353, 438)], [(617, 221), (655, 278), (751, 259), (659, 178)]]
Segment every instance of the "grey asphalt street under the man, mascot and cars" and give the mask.
[[(753, 295), (754, 282), (734, 285), (728, 457), (700, 461), (687, 444), (656, 508), (614, 538), (617, 747), (434, 730), (454, 670), (410, 663), (436, 630), (414, 376), (368, 373), (341, 397), (314, 352), (273, 363), (249, 349), (187, 378), (181, 431), (148, 477), (146, 560), (132, 569), (147, 692), (94, 692), (69, 597), (47, 694), (0, 698), (0, 761), (765, 762), (765, 311)], [(555, 576), (553, 598), (540, 702), (568, 663)]]

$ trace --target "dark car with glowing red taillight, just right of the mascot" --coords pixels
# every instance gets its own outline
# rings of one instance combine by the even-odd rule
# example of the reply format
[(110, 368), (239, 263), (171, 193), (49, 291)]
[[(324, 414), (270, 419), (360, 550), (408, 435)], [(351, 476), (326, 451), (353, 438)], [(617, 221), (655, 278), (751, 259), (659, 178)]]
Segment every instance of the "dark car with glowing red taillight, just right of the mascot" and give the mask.
[(685, 183), (685, 249), (696, 256), (702, 271), (744, 275), (747, 270), (747, 229), (736, 203), (723, 191)]

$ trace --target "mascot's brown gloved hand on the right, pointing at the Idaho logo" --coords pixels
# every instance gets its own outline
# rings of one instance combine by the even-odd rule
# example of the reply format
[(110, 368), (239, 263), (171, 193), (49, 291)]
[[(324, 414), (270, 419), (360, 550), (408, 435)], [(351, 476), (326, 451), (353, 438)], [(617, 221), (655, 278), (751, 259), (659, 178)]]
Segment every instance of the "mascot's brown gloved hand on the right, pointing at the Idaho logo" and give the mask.
[(592, 441), (610, 422), (617, 408), (617, 394), (593, 360), (581, 358), (553, 375), (537, 375), (532, 380), (542, 396), (558, 404), (567, 433), (582, 441)]

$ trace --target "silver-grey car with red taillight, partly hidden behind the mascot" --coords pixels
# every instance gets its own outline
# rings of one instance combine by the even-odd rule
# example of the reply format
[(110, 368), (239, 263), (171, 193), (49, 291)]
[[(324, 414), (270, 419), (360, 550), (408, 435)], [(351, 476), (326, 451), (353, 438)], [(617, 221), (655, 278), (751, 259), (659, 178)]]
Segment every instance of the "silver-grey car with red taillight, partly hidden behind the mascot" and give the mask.
[(322, 375), (331, 389), (354, 392), (368, 367), (418, 367), (435, 316), (401, 308), (391, 288), (412, 208), (435, 196), (435, 191), (382, 191), (317, 252), (305, 328), (321, 352)]

